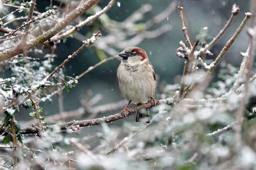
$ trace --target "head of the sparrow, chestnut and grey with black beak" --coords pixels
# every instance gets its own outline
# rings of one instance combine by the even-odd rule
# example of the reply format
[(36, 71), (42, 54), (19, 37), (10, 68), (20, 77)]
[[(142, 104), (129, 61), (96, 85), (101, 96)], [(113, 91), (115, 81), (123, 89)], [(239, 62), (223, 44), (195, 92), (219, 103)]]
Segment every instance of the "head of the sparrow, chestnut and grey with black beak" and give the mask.
[(146, 52), (138, 47), (127, 47), (118, 54), (122, 57), (122, 62), (129, 65), (140, 65), (148, 60)]

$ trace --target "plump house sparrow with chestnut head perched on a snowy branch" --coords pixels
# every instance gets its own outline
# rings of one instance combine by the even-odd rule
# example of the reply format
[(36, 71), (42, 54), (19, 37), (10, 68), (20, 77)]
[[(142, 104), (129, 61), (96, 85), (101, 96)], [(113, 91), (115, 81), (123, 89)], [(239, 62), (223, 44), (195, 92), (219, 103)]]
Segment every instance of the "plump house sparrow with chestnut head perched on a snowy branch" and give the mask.
[[(131, 102), (141, 105), (151, 99), (151, 102), (156, 103), (156, 99), (154, 99), (156, 76), (143, 49), (127, 47), (118, 55), (123, 58), (117, 68), (119, 88), (122, 96), (129, 101), (121, 112), (126, 117)], [(143, 114), (138, 112), (135, 122), (139, 122), (141, 117)]]

